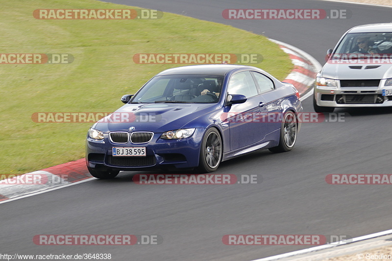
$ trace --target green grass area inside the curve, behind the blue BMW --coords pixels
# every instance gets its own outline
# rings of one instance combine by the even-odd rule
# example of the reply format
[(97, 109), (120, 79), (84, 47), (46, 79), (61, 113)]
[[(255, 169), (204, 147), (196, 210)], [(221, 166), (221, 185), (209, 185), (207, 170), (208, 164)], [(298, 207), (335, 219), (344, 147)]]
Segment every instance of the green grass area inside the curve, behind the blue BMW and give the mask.
[(38, 20), (39, 8), (133, 8), (95, 0), (1, 2), (1, 53), (70, 53), (71, 64), (0, 64), (0, 173), (25, 173), (84, 157), (91, 123), (36, 123), (35, 112), (112, 112), (120, 97), (182, 65), (135, 64), (135, 53), (261, 53), (279, 79), (287, 54), (264, 36), (164, 13), (158, 20)]

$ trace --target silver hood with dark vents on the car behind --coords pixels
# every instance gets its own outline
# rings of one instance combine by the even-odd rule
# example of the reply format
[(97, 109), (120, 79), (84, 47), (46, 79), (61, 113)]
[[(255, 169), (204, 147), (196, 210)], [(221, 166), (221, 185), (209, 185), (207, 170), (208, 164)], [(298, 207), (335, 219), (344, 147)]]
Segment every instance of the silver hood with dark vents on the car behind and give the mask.
[(387, 79), (392, 78), (391, 64), (331, 64), (326, 63), (321, 71), (322, 77), (335, 80)]

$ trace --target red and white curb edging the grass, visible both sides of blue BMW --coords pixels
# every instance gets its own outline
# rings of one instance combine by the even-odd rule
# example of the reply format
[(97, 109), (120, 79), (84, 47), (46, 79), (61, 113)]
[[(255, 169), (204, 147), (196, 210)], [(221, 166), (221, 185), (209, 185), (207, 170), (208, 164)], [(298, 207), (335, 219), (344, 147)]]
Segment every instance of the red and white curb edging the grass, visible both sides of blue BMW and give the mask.
[[(293, 71), (284, 82), (293, 84), (301, 95), (304, 94), (308, 90), (308, 86), (311, 86), (315, 81), (316, 73), (321, 70), (321, 65), (311, 55), (294, 46), (272, 39), (270, 41), (278, 44), (284, 52), (288, 53), (294, 64)], [(306, 96), (303, 96), (301, 100), (305, 98)], [(85, 159), (80, 159), (19, 175), (12, 179), (1, 180), (0, 204), (68, 187), (89, 179), (94, 178), (87, 170)], [(33, 180), (33, 182), (28, 183), (25, 182), (26, 180)]]

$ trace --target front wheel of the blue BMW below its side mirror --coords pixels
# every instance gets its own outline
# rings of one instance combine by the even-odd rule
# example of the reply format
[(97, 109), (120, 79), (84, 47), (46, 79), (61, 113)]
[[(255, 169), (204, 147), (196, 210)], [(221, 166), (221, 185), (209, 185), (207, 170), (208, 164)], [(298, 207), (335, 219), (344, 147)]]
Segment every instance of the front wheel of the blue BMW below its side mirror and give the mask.
[(200, 146), (200, 158), (197, 171), (200, 173), (212, 172), (218, 169), (222, 160), (222, 139), (218, 130), (208, 129)]

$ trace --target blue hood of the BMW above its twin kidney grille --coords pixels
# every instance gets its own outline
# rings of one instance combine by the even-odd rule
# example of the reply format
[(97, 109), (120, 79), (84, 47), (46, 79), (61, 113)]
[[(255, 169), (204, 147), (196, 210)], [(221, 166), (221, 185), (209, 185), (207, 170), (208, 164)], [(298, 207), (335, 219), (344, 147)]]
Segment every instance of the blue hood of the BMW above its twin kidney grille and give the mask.
[[(100, 119), (93, 128), (102, 132), (152, 131), (163, 133), (182, 128), (186, 123), (205, 114), (205, 109), (217, 104), (148, 103), (125, 104), (113, 114)], [(212, 110), (212, 108), (211, 108)]]

